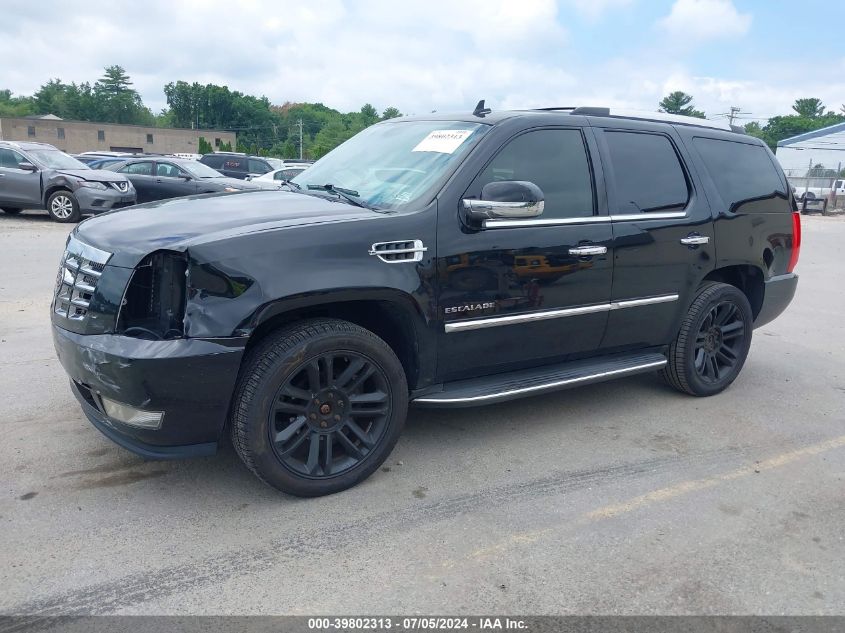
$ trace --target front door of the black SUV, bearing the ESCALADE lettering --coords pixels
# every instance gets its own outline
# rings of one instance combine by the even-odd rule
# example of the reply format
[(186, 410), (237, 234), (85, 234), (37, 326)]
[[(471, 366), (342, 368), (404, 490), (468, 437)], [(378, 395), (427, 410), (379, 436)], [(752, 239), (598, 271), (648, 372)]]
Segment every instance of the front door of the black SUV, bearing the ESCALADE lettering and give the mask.
[(580, 128), (525, 131), (495, 153), (462, 196), (479, 198), (493, 181), (530, 181), (545, 197), (538, 218), (488, 220), (472, 229), (451, 211), (460, 200), (442, 201), (440, 379), (553, 362), (599, 347), (613, 259), (609, 218), (597, 202), (595, 152)]

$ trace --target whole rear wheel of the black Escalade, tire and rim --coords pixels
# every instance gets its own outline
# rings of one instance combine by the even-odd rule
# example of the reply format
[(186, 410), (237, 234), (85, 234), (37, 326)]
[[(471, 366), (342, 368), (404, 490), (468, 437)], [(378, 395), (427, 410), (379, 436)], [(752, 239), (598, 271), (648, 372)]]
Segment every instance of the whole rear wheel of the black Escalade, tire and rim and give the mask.
[(703, 284), (669, 346), (669, 364), (661, 375), (678, 391), (693, 396), (724, 391), (745, 364), (753, 321), (741, 290), (723, 283)]

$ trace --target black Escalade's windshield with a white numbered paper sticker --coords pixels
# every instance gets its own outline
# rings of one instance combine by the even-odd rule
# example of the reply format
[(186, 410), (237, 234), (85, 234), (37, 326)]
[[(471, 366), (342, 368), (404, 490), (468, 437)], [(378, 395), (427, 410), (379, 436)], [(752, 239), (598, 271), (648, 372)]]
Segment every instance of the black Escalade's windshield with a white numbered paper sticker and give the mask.
[(293, 179), (302, 190), (332, 185), (368, 207), (420, 200), (449, 177), (486, 125), (462, 121), (381, 123), (329, 152)]

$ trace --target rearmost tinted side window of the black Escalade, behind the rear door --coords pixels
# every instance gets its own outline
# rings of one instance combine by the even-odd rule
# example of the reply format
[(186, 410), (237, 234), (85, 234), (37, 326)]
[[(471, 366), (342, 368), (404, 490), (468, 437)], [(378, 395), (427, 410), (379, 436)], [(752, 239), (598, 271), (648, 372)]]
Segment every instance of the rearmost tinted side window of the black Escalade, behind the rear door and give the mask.
[(754, 199), (786, 197), (783, 181), (765, 147), (700, 136), (693, 143), (731, 210)]

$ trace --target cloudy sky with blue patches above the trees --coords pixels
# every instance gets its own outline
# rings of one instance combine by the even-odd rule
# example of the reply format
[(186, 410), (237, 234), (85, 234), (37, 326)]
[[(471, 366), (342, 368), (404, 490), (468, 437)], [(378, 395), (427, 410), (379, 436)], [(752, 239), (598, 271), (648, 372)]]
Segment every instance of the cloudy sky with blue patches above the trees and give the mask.
[(841, 0), (0, 0), (0, 89), (119, 64), (154, 112), (181, 79), (408, 114), (655, 110), (683, 90), (709, 118), (765, 122), (799, 97), (845, 103), (843, 22)]

